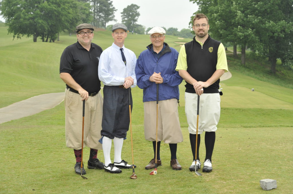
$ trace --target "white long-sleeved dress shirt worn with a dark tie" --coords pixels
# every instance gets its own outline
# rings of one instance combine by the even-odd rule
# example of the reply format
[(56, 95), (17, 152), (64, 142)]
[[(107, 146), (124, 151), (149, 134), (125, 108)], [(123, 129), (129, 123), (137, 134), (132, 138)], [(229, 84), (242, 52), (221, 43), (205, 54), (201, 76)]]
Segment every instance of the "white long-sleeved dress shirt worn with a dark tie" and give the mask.
[(124, 79), (131, 76), (134, 79), (131, 88), (134, 88), (137, 83), (135, 76), (136, 56), (131, 50), (125, 48), (124, 45), (122, 48), (126, 59), (126, 66), (122, 60), (120, 47), (113, 43), (100, 56), (98, 76), (104, 85), (123, 85)]

